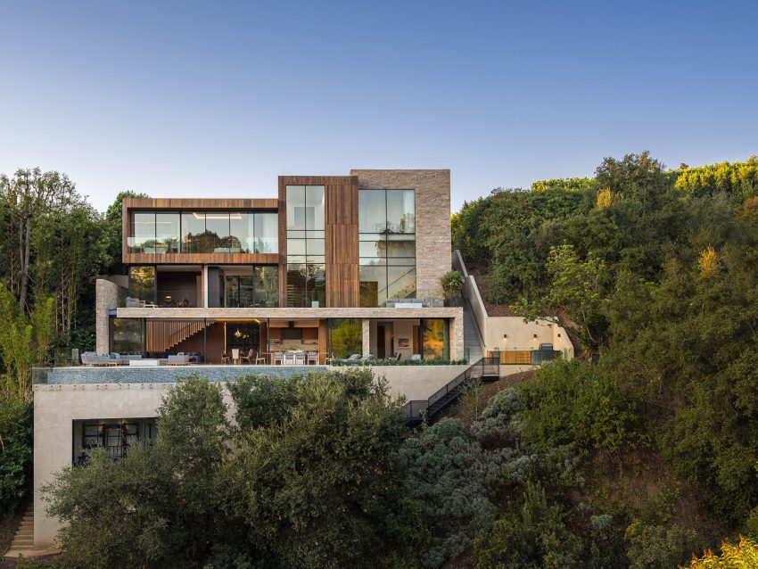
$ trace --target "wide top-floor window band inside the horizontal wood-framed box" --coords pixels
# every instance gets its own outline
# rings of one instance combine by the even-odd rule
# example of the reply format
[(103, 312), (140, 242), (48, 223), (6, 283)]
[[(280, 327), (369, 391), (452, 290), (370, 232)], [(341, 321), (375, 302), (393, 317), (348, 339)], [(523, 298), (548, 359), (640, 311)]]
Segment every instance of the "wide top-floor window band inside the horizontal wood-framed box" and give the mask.
[(133, 211), (133, 253), (276, 253), (278, 214), (271, 211)]

